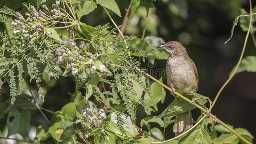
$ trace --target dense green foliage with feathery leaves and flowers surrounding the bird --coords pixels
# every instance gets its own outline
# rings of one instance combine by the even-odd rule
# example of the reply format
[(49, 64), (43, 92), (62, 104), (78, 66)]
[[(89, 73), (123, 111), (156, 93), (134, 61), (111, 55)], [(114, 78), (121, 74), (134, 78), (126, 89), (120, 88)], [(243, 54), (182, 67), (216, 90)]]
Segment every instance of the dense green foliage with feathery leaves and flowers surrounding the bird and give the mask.
[[(155, 0), (132, 1), (130, 17), (140, 7), (145, 7), (147, 14), (156, 9)], [(107, 14), (110, 10), (121, 17), (115, 0), (36, 0), (21, 7), (20, 12), (6, 6), (0, 8), (0, 22), (6, 27), (0, 35), (0, 88), (3, 84), (10, 87), (10, 99), (0, 103), (0, 119), (7, 115), (7, 137), (15, 133), (27, 137), (30, 119), (37, 108), (41, 110), (38, 103), (44, 102), (52, 78), (73, 77), (74, 98), (55, 111), (49, 122), (37, 127), (34, 142), (38, 144), (48, 139), (61, 144), (159, 142), (165, 139), (165, 131), (151, 128), (151, 123), (166, 129), (177, 114), (196, 108), (178, 97), (160, 115), (153, 116), (158, 111), (157, 104), (164, 103), (166, 91), (162, 79), (151, 82), (140, 67), (145, 59), (154, 63), (168, 58), (167, 53), (156, 48), (165, 43), (163, 39), (118, 37), (118, 27), (94, 27), (82, 22), (84, 15), (102, 7)], [(238, 19), (234, 26), (237, 22)], [(244, 22), (240, 23), (245, 30)], [(252, 66), (255, 61), (255, 56), (244, 58), (236, 73), (256, 72)], [(196, 93), (186, 98), (195, 99), (202, 108), (212, 104), (207, 96)], [(139, 108), (145, 113), (140, 127), (136, 125)], [(207, 113), (202, 112), (198, 120), (203, 115)], [(239, 143), (236, 135), (215, 125), (214, 120), (202, 120), (180, 141), (169, 143)], [(252, 142), (250, 132), (234, 130)], [(219, 137), (217, 132), (221, 133)]]

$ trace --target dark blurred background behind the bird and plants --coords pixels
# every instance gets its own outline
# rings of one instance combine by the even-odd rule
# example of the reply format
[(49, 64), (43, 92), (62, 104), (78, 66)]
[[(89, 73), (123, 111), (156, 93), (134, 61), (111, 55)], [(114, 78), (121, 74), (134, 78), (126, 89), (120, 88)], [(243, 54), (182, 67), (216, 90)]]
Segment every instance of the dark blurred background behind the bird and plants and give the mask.
[[(14, 10), (20, 10), (20, 5), (24, 1), (36, 0), (0, 0), (0, 7), (7, 5)], [(111, 13), (117, 24), (122, 24), (122, 19), (126, 13), (130, 0), (116, 0), (122, 12), (122, 18)], [(253, 0), (253, 6), (256, 1)], [(232, 68), (239, 59), (246, 33), (236, 26), (232, 39), (224, 45), (230, 37), (232, 22), (240, 14), (241, 8), (249, 10), (248, 0), (156, 0), (155, 8), (151, 8), (146, 19), (146, 8), (140, 7), (137, 13), (133, 13), (125, 35), (141, 37), (146, 24), (146, 36), (158, 36), (168, 41), (179, 41), (183, 44), (192, 60), (195, 61), (199, 73), (199, 88), (197, 93), (209, 96), (214, 99), (219, 88), (229, 77)], [(146, 19), (146, 21), (145, 21)], [(85, 15), (82, 22), (92, 26), (110, 23), (108, 16), (101, 7), (94, 12)], [(146, 23), (145, 23), (146, 22)], [(113, 26), (113, 25), (112, 25)], [(0, 24), (0, 30), (4, 28)], [(251, 36), (248, 39), (245, 56), (256, 55), (256, 47)], [(142, 67), (149, 69), (150, 74), (156, 75), (156, 70), (165, 69), (166, 60), (155, 60), (155, 65), (150, 68), (148, 62), (142, 63)], [(163, 76), (163, 75), (162, 75)], [(223, 90), (219, 100), (212, 110), (219, 119), (234, 127), (243, 127), (256, 136), (256, 73), (242, 72), (232, 79), (230, 84)], [(166, 84), (166, 79), (164, 79)], [(56, 111), (63, 105), (73, 100), (74, 92), (73, 77), (61, 77), (54, 79), (47, 85), (47, 95), (44, 108)], [(166, 108), (173, 97), (168, 96), (164, 104), (158, 105), (160, 114)], [(8, 85), (4, 85), (1, 90), (0, 102), (9, 98)], [(46, 113), (50, 118), (51, 114)], [(193, 118), (197, 119), (200, 111), (193, 110)], [(139, 118), (144, 118), (138, 113)], [(5, 119), (0, 120), (0, 129), (3, 130)], [(45, 122), (40, 113), (32, 118), (32, 125), (39, 125)], [(139, 122), (139, 121), (138, 121)], [(169, 131), (169, 130), (167, 130)], [(171, 137), (172, 132), (167, 137)]]

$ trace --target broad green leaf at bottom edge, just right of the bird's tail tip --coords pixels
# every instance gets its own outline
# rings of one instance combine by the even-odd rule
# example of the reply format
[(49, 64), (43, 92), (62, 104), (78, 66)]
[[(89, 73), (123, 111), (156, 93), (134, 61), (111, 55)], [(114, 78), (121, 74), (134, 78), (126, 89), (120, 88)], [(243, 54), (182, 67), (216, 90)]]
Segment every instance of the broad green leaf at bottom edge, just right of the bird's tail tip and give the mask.
[(201, 124), (197, 126), (194, 131), (191, 131), (184, 136), (179, 144), (212, 144), (212, 141), (205, 130), (204, 124)]

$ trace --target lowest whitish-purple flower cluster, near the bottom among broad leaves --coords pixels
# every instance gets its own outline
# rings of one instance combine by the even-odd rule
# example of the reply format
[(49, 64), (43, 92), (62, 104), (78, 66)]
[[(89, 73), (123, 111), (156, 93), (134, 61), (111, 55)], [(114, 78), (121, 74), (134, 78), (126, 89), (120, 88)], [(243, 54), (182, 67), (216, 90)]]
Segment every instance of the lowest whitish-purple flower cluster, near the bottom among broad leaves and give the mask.
[(97, 109), (94, 105), (93, 108), (85, 108), (81, 111), (82, 117), (75, 120), (75, 124), (81, 123), (85, 128), (85, 139), (93, 135), (93, 132), (100, 132), (105, 134), (105, 123), (107, 115), (104, 109)]

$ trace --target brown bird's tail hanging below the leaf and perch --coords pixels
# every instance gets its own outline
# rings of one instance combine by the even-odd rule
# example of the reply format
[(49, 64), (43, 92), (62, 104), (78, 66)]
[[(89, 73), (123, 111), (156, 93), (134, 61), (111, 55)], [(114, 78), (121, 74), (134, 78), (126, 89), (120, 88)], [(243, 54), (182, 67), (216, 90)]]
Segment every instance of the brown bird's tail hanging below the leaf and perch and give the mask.
[(184, 132), (185, 128), (191, 128), (192, 126), (192, 114), (191, 111), (187, 111), (176, 116), (172, 131), (178, 136)]

